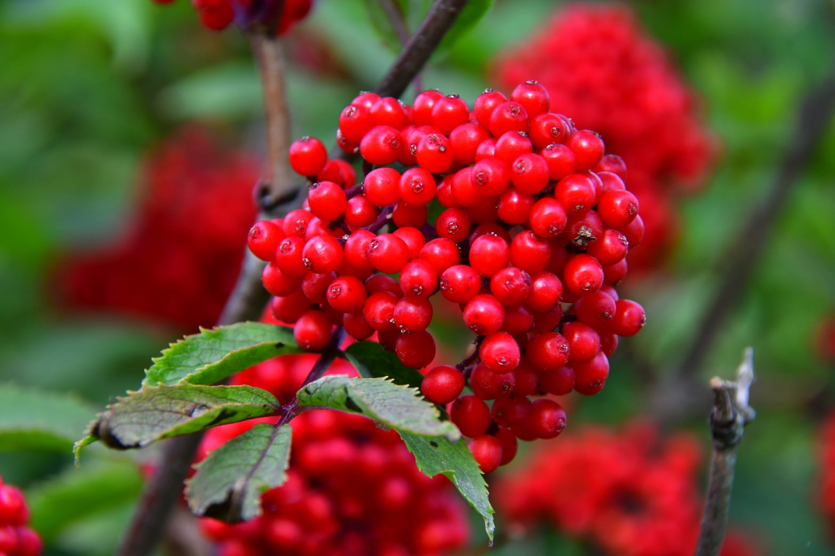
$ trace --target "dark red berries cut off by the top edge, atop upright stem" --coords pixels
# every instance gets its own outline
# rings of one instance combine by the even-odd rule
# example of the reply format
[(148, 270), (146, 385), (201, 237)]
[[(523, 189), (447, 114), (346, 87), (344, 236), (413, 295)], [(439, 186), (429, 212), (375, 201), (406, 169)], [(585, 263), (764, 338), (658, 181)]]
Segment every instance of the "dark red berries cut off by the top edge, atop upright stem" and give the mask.
[[(158, 4), (170, 4), (175, 0), (153, 0)], [(293, 24), (301, 21), (311, 10), (312, 0), (191, 0), (200, 23), (212, 31), (222, 31), (235, 22), (241, 28), (253, 25), (275, 26), (283, 35)]]

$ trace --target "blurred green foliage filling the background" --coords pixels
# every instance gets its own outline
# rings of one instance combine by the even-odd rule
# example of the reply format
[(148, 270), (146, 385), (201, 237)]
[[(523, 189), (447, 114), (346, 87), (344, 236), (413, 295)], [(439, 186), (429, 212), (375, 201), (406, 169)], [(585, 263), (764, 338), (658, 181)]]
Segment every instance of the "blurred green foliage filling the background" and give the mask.
[[(340, 110), (392, 62), (395, 54), (377, 38), (364, 4), (319, 0), (291, 33), (295, 135), (331, 138)], [(436, 57), (423, 87), (474, 98), (491, 84), (493, 54), (524, 40), (557, 7), (497, 0), (476, 28)], [(701, 193), (681, 199), (684, 224), (668, 267), (627, 279), (649, 324), (625, 340), (629, 356), (616, 358), (609, 386), (575, 408), (572, 425), (618, 423), (640, 413), (646, 369), (635, 362), (660, 373), (675, 367), (722, 278), (716, 268), (726, 245), (772, 183), (798, 103), (832, 71), (835, 53), (835, 5), (825, 0), (645, 0), (635, 9), (698, 91), (721, 161)], [(149, 0), (7, 0), (0, 3), (0, 59), (0, 378), (71, 391), (100, 405), (136, 388), (149, 358), (173, 338), (169, 330), (112, 315), (59, 313), (48, 301), (49, 270), (68, 246), (93, 248), (119, 235), (140, 194), (144, 153), (181, 124), (215, 123), (261, 153), (256, 70), (240, 33), (206, 32), (185, 0), (165, 8)], [(730, 376), (741, 348), (756, 350), (758, 418), (741, 446), (731, 519), (762, 533), (773, 554), (832, 550), (812, 493), (816, 423), (822, 408), (835, 407), (832, 368), (813, 349), (821, 319), (835, 313), (833, 177), (830, 124), (703, 369), (705, 379)], [(460, 344), (448, 349), (462, 351)], [(706, 439), (703, 422), (695, 415), (668, 424)], [(72, 491), (57, 474), (72, 474), (70, 459), (0, 453), (0, 474), (40, 501), (33, 504), (35, 523), (48, 523), (49, 553), (110, 553), (137, 492), (132, 465), (126, 471), (125, 458), (91, 451), (91, 469), (104, 469), (103, 481), (123, 473), (129, 487), (108, 499), (107, 511), (83, 511), (87, 497), (77, 516), (61, 521), (48, 500)], [(81, 488), (88, 479), (74, 480)], [(543, 533), (497, 553), (583, 550)]]

